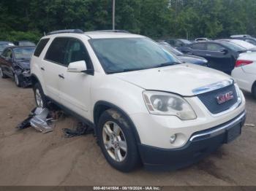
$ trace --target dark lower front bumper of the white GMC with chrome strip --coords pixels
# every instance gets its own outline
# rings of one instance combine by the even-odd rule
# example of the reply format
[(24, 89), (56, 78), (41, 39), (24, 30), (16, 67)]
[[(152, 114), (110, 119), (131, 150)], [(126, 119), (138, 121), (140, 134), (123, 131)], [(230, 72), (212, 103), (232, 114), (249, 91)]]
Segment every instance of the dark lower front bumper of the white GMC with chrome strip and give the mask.
[(242, 112), (233, 120), (217, 127), (195, 132), (187, 144), (178, 149), (160, 149), (139, 144), (140, 157), (145, 168), (151, 170), (175, 170), (196, 163), (206, 155), (214, 152), (222, 144), (227, 143), (227, 130), (240, 125), (246, 120), (246, 112)]

